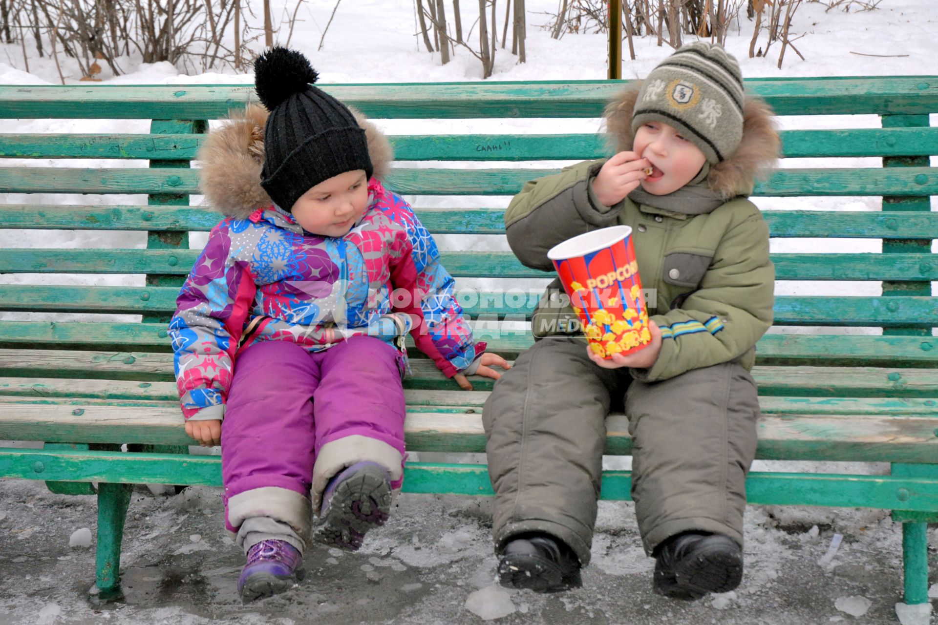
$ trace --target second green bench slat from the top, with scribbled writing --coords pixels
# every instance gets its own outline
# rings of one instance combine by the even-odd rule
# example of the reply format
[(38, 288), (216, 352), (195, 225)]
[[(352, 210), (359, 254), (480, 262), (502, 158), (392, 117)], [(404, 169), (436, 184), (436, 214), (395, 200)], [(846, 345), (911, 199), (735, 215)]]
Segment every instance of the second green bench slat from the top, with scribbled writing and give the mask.
[[(938, 154), (938, 128), (782, 130), (785, 157)], [(388, 135), (397, 160), (587, 160), (612, 154), (592, 134)], [(191, 160), (204, 136), (142, 134), (0, 134), (0, 158)]]

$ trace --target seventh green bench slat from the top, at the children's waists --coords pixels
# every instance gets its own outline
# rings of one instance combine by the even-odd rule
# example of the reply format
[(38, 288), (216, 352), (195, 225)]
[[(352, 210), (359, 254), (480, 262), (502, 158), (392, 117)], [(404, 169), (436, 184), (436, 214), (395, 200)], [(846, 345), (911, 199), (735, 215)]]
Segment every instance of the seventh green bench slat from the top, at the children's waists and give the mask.
[[(517, 354), (531, 336), (477, 329), (489, 350)], [(409, 337), (408, 337), (408, 340)], [(0, 348), (38, 346), (76, 350), (170, 350), (162, 323), (90, 321), (0, 321)], [(416, 350), (411, 346), (413, 353)], [(762, 365), (938, 366), (938, 337), (851, 335), (764, 335), (756, 348)]]

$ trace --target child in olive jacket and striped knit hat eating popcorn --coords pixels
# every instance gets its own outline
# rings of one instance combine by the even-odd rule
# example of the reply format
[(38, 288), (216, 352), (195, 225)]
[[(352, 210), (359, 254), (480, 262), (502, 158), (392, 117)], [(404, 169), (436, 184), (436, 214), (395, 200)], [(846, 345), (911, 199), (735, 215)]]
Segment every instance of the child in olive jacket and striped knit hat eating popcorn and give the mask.
[(630, 226), (652, 341), (603, 360), (582, 335), (558, 330), (577, 327), (557, 303), (559, 280), (541, 299), (537, 342), (483, 412), (499, 573), (504, 584), (540, 591), (580, 583), (605, 418), (625, 409), (654, 588), (693, 600), (742, 578), (759, 415), (749, 369), (772, 324), (775, 276), (768, 228), (747, 196), (778, 155), (779, 136), (768, 107), (744, 94), (733, 56), (700, 42), (613, 101), (606, 120), (618, 154), (524, 186), (507, 209), (507, 239), (525, 265), (550, 271), (552, 246)]

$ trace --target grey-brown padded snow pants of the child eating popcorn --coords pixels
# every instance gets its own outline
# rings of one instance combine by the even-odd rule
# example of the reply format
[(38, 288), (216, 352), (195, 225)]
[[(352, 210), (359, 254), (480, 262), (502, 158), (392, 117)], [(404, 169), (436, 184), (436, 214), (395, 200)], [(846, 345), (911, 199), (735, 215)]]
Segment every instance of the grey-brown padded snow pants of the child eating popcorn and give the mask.
[(518, 357), (482, 413), (496, 550), (542, 531), (589, 562), (611, 407), (629, 419), (645, 552), (688, 530), (742, 545), (759, 416), (749, 372), (725, 363), (646, 383), (594, 365), (582, 340), (552, 336)]

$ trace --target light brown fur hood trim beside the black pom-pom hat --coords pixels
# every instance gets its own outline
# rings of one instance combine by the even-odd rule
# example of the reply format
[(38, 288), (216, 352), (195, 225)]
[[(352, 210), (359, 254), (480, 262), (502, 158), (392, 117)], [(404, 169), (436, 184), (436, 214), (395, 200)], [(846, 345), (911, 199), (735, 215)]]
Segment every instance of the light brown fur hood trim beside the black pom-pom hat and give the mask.
[[(372, 175), (379, 179), (390, 169), (394, 153), (386, 136), (361, 112), (349, 107), (365, 128), (368, 153), (374, 167)], [(264, 127), (267, 110), (256, 104), (241, 112), (233, 112), (231, 119), (208, 134), (199, 160), (201, 190), (209, 206), (226, 217), (246, 219), (258, 208), (273, 202), (261, 186), (264, 167)]]

